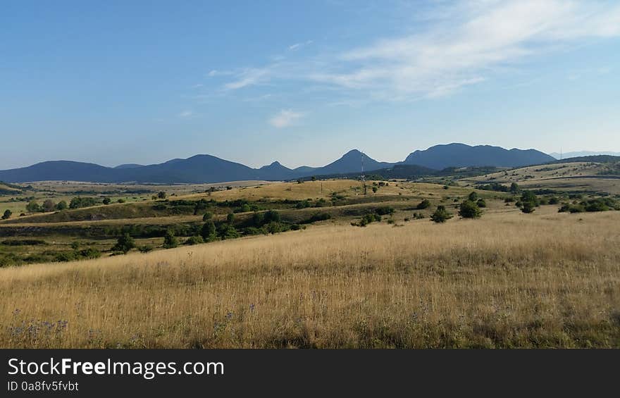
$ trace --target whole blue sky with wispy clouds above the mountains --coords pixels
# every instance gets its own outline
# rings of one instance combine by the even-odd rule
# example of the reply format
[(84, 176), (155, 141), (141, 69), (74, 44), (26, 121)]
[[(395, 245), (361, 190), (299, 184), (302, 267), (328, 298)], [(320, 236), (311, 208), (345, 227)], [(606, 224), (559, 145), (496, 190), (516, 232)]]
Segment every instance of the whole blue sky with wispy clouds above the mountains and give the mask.
[(0, 169), (620, 151), (620, 2), (4, 1)]

